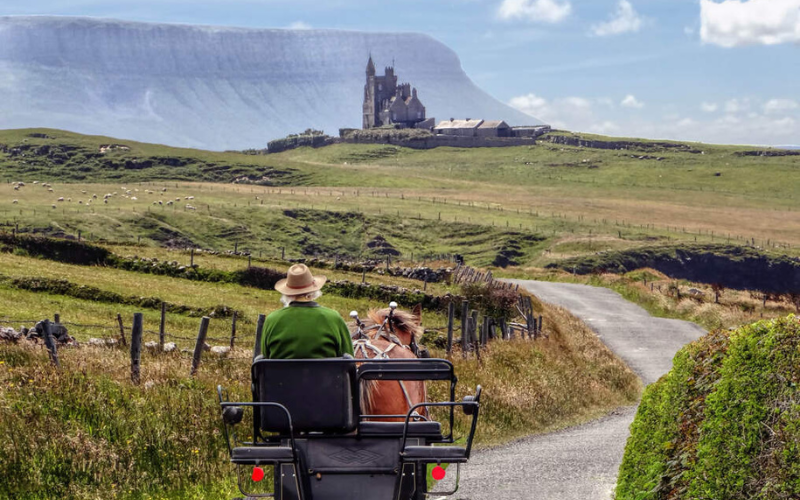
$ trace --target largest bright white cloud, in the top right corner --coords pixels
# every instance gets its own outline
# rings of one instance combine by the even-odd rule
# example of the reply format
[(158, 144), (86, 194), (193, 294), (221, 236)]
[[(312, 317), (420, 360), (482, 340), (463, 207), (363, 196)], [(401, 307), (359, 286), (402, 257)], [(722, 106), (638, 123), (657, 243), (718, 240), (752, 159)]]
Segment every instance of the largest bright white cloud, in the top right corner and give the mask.
[(721, 47), (800, 42), (800, 0), (700, 0), (700, 38)]

